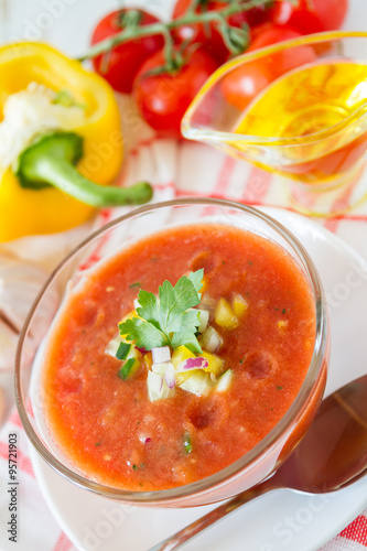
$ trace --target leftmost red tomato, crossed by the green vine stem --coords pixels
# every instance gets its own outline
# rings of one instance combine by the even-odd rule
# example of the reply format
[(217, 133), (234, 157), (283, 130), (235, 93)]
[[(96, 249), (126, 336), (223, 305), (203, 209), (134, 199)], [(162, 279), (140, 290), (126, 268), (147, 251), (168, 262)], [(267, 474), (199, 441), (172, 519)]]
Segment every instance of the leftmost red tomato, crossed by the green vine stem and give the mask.
[[(123, 9), (109, 13), (97, 24), (91, 35), (91, 44), (96, 44), (123, 30), (123, 15), (131, 10)], [(156, 23), (159, 20), (145, 12), (140, 13), (141, 25)], [(130, 40), (114, 47), (110, 53), (99, 55), (93, 60), (95, 69), (102, 75), (106, 80), (117, 91), (130, 94), (133, 79), (143, 62), (163, 47), (161, 35), (145, 36), (143, 39)]]

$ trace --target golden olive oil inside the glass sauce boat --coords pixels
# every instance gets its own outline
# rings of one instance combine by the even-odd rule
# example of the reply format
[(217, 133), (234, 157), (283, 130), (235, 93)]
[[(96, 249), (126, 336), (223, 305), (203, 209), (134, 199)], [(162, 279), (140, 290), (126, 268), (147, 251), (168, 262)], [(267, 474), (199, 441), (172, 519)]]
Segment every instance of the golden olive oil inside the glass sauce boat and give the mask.
[(326, 58), (281, 76), (249, 105), (235, 132), (271, 138), (268, 170), (306, 184), (335, 181), (367, 148), (367, 65)]

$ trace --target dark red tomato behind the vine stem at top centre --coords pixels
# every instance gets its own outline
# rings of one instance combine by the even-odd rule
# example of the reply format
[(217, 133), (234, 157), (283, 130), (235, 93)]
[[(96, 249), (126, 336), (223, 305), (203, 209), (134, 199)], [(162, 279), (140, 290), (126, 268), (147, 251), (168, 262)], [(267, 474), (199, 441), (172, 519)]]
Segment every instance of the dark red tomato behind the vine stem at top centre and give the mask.
[[(177, 0), (173, 9), (172, 19), (182, 18), (190, 8), (191, 1), (192, 0)], [(218, 0), (201, 0), (195, 11), (196, 13), (217, 11), (222, 10), (226, 6), (228, 6), (228, 2)], [(228, 22), (231, 26), (237, 28), (240, 28), (245, 23), (249, 26), (253, 26), (265, 22), (267, 19), (267, 10), (263, 7), (259, 7), (252, 8), (248, 11), (235, 13), (228, 19)], [(209, 24), (207, 28), (203, 24), (181, 26), (174, 31), (173, 35), (179, 43), (190, 40), (193, 43), (201, 44), (215, 60), (218, 61), (218, 63), (223, 63), (228, 60), (229, 51), (225, 45), (222, 34), (217, 30), (215, 23)]]

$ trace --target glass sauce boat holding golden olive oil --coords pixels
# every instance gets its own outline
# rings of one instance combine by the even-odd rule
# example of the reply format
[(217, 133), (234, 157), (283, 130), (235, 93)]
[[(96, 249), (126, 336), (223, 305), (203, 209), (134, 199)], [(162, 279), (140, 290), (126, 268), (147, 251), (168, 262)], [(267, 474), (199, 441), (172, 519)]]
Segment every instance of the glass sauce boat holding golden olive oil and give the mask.
[[(205, 83), (182, 120), (185, 138), (284, 176), (292, 206), (341, 215), (367, 149), (367, 33), (335, 31), (235, 57)], [(348, 207), (338, 194), (353, 197)], [(345, 202), (344, 202), (345, 203)]]

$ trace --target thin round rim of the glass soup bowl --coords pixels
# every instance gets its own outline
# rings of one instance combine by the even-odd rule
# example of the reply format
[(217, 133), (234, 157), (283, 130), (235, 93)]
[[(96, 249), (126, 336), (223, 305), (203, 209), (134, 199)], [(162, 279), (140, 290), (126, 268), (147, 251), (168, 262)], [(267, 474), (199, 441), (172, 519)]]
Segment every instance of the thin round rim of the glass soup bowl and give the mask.
[[(25, 395), (24, 397), (25, 399), (23, 399), (22, 377), (21, 377), (22, 346), (26, 337), (29, 326), (32, 322), (33, 314), (35, 313), (40, 302), (42, 301), (43, 295), (47, 292), (50, 284), (57, 277), (60, 271), (62, 271), (63, 267), (74, 256), (76, 256), (84, 247), (90, 245), (93, 241), (100, 238), (102, 234), (108, 233), (109, 230), (114, 229), (114, 227), (125, 223), (126, 220), (133, 219), (134, 217), (148, 214), (149, 212), (158, 212), (159, 209), (162, 208), (180, 207), (180, 206), (181, 207), (214, 206), (214, 207), (224, 207), (224, 208), (240, 210), (245, 215), (250, 215), (251, 217), (260, 218), (263, 223), (266, 223), (266, 225), (276, 230), (276, 233), (278, 233), (285, 240), (285, 242), (288, 242), (288, 245), (291, 246), (292, 250), (296, 252), (296, 255), (301, 258), (303, 262), (302, 269), (306, 272), (306, 276), (310, 279), (310, 285), (312, 288), (312, 292), (314, 295), (315, 313), (316, 313), (316, 334), (315, 334), (314, 349), (305, 379), (295, 399), (291, 403), (285, 414), (253, 449), (251, 449), (249, 452), (242, 455), (239, 460), (231, 463), (227, 467), (218, 471), (217, 473), (214, 473), (211, 476), (207, 476), (197, 482), (186, 484), (183, 486), (177, 486), (169, 489), (160, 489), (154, 491), (123, 490), (120, 488), (105, 486), (100, 483), (86, 478), (85, 476), (78, 474), (77, 472), (72, 471), (71, 468), (65, 466), (62, 463), (62, 461), (55, 457), (55, 455), (51, 451), (48, 451), (46, 446), (43, 444), (43, 442), (36, 434), (35, 430), (33, 429), (31, 421), (29, 420), (29, 414), (25, 406), (25, 399), (28, 395)], [(188, 223), (187, 225), (190, 224), (191, 223)], [(164, 229), (165, 228), (162, 228), (162, 230)], [(319, 272), (311, 257), (309, 256), (307, 251), (303, 247), (303, 245), (281, 223), (279, 223), (268, 214), (262, 213), (261, 210), (255, 207), (219, 198), (212, 198), (212, 197), (179, 198), (161, 203), (152, 203), (149, 205), (144, 205), (140, 208), (130, 210), (129, 213), (119, 216), (118, 218), (115, 218), (114, 220), (106, 224), (101, 228), (91, 233), (87, 238), (85, 238), (76, 247), (74, 247), (73, 250), (68, 252), (62, 259), (61, 262), (58, 262), (56, 268), (50, 274), (46, 282), (42, 287), (37, 298), (33, 302), (31, 310), (29, 311), (28, 317), (24, 322), (22, 332), (19, 337), (17, 355), (15, 355), (15, 369), (14, 369), (15, 403), (23, 429), (26, 433), (28, 439), (32, 443), (33, 447), (36, 450), (39, 455), (41, 455), (41, 457), (45, 461), (47, 465), (50, 465), (54, 471), (64, 476), (66, 479), (72, 480), (79, 487), (91, 490), (104, 497), (120, 500), (121, 503), (130, 503), (134, 505), (139, 504), (159, 505), (161, 501), (164, 503), (175, 501), (180, 500), (180, 498), (186, 498), (190, 496), (201, 494), (205, 490), (209, 490), (211, 488), (217, 487), (218, 485), (225, 485), (227, 479), (233, 479), (234, 477), (241, 475), (244, 471), (250, 469), (251, 466), (253, 466), (253, 464), (256, 464), (258, 461), (261, 461), (261, 457), (265, 454), (267, 454), (273, 447), (277, 446), (282, 435), (287, 433), (287, 430), (290, 429), (292, 422), (296, 420), (298, 415), (302, 413), (304, 406), (307, 403), (309, 399), (313, 396), (313, 391), (317, 386), (319, 377), (321, 375), (323, 367), (323, 360), (327, 349), (327, 334), (328, 334), (328, 318), (326, 311), (326, 301)]]

